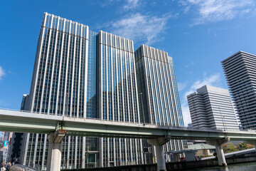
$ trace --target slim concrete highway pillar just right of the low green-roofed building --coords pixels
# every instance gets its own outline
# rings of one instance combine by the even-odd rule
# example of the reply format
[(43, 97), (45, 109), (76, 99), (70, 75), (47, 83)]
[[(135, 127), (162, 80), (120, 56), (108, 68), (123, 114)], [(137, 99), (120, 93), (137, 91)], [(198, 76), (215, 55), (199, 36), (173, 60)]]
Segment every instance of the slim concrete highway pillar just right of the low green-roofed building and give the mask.
[(215, 147), (216, 147), (216, 153), (217, 153), (217, 157), (218, 157), (218, 164), (220, 166), (227, 166), (227, 162), (225, 160), (225, 155), (224, 155), (224, 152), (223, 152), (222, 145), (225, 142), (228, 142), (228, 141), (230, 141), (230, 138), (223, 138), (223, 139), (220, 139), (220, 140), (215, 140)]

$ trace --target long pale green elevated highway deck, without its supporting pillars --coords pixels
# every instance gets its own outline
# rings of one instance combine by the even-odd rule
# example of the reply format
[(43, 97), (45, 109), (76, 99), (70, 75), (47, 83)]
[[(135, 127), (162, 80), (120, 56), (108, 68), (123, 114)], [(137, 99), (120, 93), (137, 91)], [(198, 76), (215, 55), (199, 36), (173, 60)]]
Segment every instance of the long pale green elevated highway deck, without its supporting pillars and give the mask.
[(66, 135), (110, 138), (159, 138), (181, 140), (256, 140), (256, 132), (202, 130), (196, 128), (144, 125), (92, 118), (70, 118), (59, 115), (0, 109), (0, 130), (16, 133), (53, 133), (66, 130)]

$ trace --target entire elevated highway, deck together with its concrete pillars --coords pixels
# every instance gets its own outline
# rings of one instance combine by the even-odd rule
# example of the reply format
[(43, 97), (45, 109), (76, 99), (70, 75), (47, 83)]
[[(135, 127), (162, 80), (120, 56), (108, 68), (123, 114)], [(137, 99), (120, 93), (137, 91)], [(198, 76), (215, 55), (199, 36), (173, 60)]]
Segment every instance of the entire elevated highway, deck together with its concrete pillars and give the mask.
[(158, 170), (166, 170), (163, 146), (171, 139), (207, 140), (215, 145), (219, 165), (226, 165), (223, 143), (229, 140), (256, 142), (254, 131), (202, 130), (164, 125), (144, 125), (92, 118), (69, 118), (60, 115), (0, 109), (0, 130), (16, 133), (46, 133), (49, 140), (48, 169), (60, 170), (62, 140), (66, 135), (145, 138), (156, 146)]

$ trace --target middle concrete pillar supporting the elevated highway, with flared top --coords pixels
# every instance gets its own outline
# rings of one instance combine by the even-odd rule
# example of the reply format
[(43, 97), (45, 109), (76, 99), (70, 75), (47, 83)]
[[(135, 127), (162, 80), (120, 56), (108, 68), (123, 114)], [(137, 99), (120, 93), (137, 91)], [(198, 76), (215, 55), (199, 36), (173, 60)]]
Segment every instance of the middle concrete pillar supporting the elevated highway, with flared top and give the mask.
[(165, 145), (166, 142), (169, 142), (169, 140), (171, 140), (171, 138), (168, 137), (152, 138), (146, 140), (150, 145), (155, 146), (157, 171), (166, 171), (163, 145)]

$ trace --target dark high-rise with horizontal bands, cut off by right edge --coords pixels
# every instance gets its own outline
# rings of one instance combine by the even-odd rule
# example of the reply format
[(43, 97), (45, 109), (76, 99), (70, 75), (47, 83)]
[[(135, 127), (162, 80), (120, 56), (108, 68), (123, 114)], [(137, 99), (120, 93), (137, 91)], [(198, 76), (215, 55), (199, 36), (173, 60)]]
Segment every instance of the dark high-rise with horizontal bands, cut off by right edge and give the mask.
[(221, 61), (243, 129), (256, 129), (256, 56), (239, 51)]

